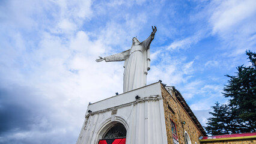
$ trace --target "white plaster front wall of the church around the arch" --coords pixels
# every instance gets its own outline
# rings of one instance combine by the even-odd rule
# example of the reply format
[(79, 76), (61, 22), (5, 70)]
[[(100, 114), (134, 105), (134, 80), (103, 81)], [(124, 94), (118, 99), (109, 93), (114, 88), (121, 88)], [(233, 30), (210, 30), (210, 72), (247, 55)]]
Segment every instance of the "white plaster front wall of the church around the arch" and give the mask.
[[(88, 106), (77, 144), (96, 144), (111, 122), (127, 130), (126, 143), (166, 143), (165, 118), (160, 83), (144, 86)], [(135, 96), (141, 97), (139, 100)], [(117, 109), (117, 114), (111, 115)]]

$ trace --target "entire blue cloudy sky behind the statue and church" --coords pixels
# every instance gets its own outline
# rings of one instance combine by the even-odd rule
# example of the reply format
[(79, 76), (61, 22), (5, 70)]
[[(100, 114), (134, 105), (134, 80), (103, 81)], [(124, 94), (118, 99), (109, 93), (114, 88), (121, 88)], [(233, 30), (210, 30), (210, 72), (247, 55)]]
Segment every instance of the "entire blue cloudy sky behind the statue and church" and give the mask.
[(205, 125), (256, 51), (255, 16), (254, 0), (0, 1), (0, 143), (75, 143), (89, 101), (123, 92), (123, 62), (95, 59), (151, 26), (147, 83), (175, 86)]

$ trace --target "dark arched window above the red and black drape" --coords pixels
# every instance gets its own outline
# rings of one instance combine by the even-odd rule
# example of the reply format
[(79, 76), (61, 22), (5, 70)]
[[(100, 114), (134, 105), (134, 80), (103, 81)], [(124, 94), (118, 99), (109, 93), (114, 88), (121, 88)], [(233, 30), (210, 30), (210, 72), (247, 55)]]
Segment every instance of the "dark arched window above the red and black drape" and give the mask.
[(103, 139), (115, 139), (118, 137), (126, 137), (126, 128), (123, 124), (117, 123), (109, 127), (103, 135)]

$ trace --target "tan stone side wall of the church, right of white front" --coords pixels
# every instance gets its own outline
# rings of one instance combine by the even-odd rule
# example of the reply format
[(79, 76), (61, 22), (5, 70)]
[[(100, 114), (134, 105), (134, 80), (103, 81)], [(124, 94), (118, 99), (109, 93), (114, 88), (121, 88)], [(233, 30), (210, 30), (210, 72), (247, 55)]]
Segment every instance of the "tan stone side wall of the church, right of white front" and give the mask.
[[(172, 140), (172, 131), (171, 131), (171, 120), (175, 122), (177, 127), (178, 143), (185, 144), (184, 132), (186, 131), (189, 134), (192, 144), (199, 142), (199, 137), (203, 136), (200, 130), (195, 125), (194, 121), (190, 118), (186, 110), (178, 102), (177, 98), (172, 97), (168, 91), (162, 86), (162, 97), (163, 97), (163, 107), (165, 112), (165, 125), (168, 144), (174, 143)], [(175, 95), (174, 92), (172, 95)], [(185, 122), (185, 124), (183, 124)]]

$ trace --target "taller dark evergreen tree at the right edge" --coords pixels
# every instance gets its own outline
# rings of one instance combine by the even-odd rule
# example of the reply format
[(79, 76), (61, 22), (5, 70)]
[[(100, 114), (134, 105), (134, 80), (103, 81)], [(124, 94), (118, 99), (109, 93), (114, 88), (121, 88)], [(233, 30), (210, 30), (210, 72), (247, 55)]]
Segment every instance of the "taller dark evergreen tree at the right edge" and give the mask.
[(224, 88), (224, 97), (231, 98), (230, 106), (236, 107), (234, 112), (242, 119), (242, 132), (256, 131), (256, 54), (246, 51), (252, 65), (237, 67), (237, 75), (229, 76), (228, 85)]

